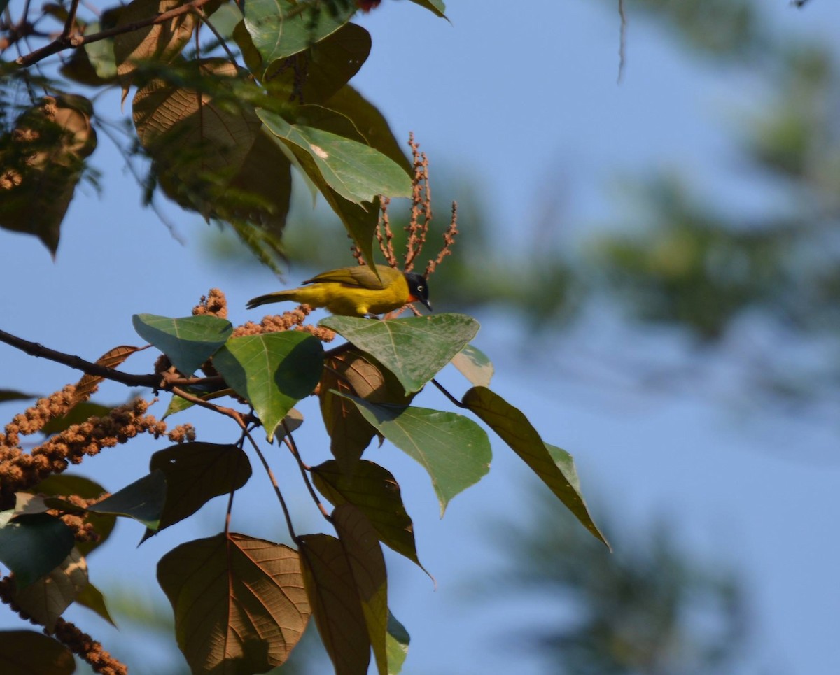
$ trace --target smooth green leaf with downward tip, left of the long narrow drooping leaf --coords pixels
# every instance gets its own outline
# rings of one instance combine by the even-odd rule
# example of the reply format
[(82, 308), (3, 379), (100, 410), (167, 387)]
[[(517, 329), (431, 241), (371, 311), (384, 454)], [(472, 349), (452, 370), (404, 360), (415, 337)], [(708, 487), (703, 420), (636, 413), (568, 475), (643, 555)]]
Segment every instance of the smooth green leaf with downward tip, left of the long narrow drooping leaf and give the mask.
[(474, 421), (454, 412), (384, 406), (347, 396), (382, 436), (428, 471), (440, 515), (456, 494), (490, 471), (490, 440)]

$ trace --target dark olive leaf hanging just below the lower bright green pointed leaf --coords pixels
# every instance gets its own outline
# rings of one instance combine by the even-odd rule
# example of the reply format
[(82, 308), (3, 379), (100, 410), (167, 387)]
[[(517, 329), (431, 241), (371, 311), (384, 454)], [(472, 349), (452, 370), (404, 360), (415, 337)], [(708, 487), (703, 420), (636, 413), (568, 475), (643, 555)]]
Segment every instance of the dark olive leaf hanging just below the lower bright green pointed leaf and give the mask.
[(330, 459), (312, 467), (312, 479), (325, 499), (334, 506), (354, 505), (367, 516), (383, 544), (426, 571), (417, 558), (412, 519), (390, 471), (362, 459), (352, 474), (345, 474), (339, 463)]

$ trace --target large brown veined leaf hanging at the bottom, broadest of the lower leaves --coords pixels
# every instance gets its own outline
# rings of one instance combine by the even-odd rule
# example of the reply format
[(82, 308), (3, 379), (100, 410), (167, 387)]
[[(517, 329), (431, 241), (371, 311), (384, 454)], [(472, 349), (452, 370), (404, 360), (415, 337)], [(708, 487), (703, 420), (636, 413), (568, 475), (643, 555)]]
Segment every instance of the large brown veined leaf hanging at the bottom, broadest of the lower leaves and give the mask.
[(310, 609), (297, 551), (231, 533), (186, 542), (158, 563), (192, 672), (265, 672), (286, 661)]

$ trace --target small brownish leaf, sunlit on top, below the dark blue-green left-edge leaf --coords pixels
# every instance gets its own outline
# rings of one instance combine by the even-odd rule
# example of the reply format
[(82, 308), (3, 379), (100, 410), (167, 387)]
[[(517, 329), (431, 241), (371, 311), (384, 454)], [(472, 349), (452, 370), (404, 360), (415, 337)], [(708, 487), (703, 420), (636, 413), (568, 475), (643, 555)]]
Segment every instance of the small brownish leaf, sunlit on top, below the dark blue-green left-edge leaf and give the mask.
[(16, 590), (14, 601), (48, 631), (87, 586), (87, 562), (75, 549), (60, 566), (24, 589)]

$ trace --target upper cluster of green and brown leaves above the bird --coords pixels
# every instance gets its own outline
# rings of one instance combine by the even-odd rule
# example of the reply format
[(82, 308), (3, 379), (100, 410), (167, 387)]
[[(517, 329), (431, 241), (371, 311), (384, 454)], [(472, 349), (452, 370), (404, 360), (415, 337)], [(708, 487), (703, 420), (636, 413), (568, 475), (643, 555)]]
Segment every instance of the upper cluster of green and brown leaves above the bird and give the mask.
[[(415, 2), (444, 16), (440, 0)], [(0, 64), (8, 92), (0, 97), (0, 227), (34, 234), (55, 253), (96, 147), (93, 128), (113, 137), (91, 100), (68, 87), (119, 87), (123, 101), (134, 88), (125, 151), (150, 158), (150, 199), (159, 189), (228, 223), (273, 264), (295, 167), (370, 259), (379, 196), (410, 196), (411, 165), (381, 113), (348, 84), (370, 53), (370, 34), (349, 23), (358, 9), (354, 0), (134, 0), (85, 21), (72, 2), (47, 5), (33, 21), (26, 3), (18, 21), (0, 23), (7, 48), (44, 39), (33, 27), (42, 19), (64, 30)], [(63, 80), (31, 72), (67, 49)], [(46, 97), (36, 97), (38, 89)], [(71, 112), (50, 116), (45, 107)], [(46, 187), (60, 198), (44, 210), (32, 195)]]

